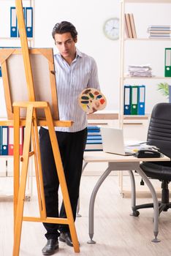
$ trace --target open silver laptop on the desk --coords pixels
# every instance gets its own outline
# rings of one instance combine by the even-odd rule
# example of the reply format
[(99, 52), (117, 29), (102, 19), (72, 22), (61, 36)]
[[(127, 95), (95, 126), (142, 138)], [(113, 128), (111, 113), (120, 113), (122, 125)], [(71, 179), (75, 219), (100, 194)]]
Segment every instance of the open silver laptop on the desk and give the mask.
[(100, 127), (102, 135), (103, 151), (111, 154), (130, 156), (133, 154), (131, 149), (126, 149), (123, 140), (123, 129), (114, 127)]

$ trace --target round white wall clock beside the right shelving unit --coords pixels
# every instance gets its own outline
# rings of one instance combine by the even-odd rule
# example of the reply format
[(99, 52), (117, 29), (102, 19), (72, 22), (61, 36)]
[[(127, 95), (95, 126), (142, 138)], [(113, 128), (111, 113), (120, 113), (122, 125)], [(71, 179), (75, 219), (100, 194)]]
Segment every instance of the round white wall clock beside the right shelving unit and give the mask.
[(115, 40), (119, 38), (119, 19), (110, 18), (104, 22), (104, 34), (107, 38)]

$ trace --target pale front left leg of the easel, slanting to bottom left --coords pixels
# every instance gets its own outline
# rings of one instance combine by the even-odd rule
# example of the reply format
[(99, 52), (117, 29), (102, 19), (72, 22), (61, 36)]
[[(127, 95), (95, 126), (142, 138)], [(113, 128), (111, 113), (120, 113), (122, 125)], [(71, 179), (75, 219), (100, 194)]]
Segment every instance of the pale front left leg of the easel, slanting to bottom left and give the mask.
[[(31, 123), (32, 123), (33, 107), (28, 107), (26, 116), (26, 132), (25, 141), (23, 146), (23, 164), (20, 176), (20, 188), (18, 192), (18, 206), (15, 217), (15, 236), (14, 236), (14, 246), (13, 246), (13, 256), (19, 255), (20, 250), (20, 236), (21, 227), (23, 222), (23, 204), (26, 192), (26, 178), (28, 173), (28, 154), (31, 139)], [(16, 118), (14, 116), (14, 118)]]

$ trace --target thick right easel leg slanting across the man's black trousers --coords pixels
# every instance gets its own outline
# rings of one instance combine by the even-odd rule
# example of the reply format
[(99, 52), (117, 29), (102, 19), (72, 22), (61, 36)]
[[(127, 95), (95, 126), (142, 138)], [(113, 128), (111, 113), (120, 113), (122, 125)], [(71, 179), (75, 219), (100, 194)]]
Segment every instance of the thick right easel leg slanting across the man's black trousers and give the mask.
[(54, 159), (56, 162), (56, 170), (58, 173), (58, 180), (61, 186), (61, 192), (63, 195), (63, 200), (64, 200), (64, 206), (65, 206), (65, 210), (66, 210), (66, 217), (69, 221), (69, 230), (71, 233), (71, 237), (72, 237), (72, 242), (73, 242), (73, 246), (75, 249), (75, 252), (80, 252), (80, 246), (79, 243), (77, 241), (77, 233), (75, 230), (75, 223), (74, 223), (74, 218), (73, 218), (73, 214), (72, 214), (72, 208), (71, 208), (71, 203), (69, 200), (69, 194), (68, 194), (68, 189), (66, 187), (66, 179), (64, 176), (64, 169), (63, 169), (63, 165), (61, 162), (61, 155), (60, 155), (60, 151), (58, 148), (58, 141), (56, 138), (56, 132), (54, 130), (53, 127), (53, 119), (50, 113), (50, 108), (45, 108), (45, 116), (47, 119), (47, 125), (48, 125), (48, 129), (49, 129), (49, 134), (50, 134), (50, 140), (51, 140), (51, 144), (52, 144), (52, 148), (53, 148), (53, 155), (54, 155)]

